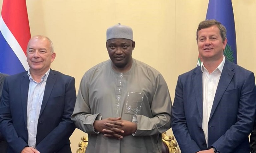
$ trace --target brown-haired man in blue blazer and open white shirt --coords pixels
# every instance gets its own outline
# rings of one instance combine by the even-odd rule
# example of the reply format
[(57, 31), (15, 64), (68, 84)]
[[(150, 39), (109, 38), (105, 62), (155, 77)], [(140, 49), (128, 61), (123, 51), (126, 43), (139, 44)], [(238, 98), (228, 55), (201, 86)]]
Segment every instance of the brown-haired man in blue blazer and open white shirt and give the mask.
[(202, 64), (179, 76), (172, 129), (182, 153), (250, 153), (255, 118), (254, 74), (225, 59), (226, 28), (216, 20), (197, 29)]

